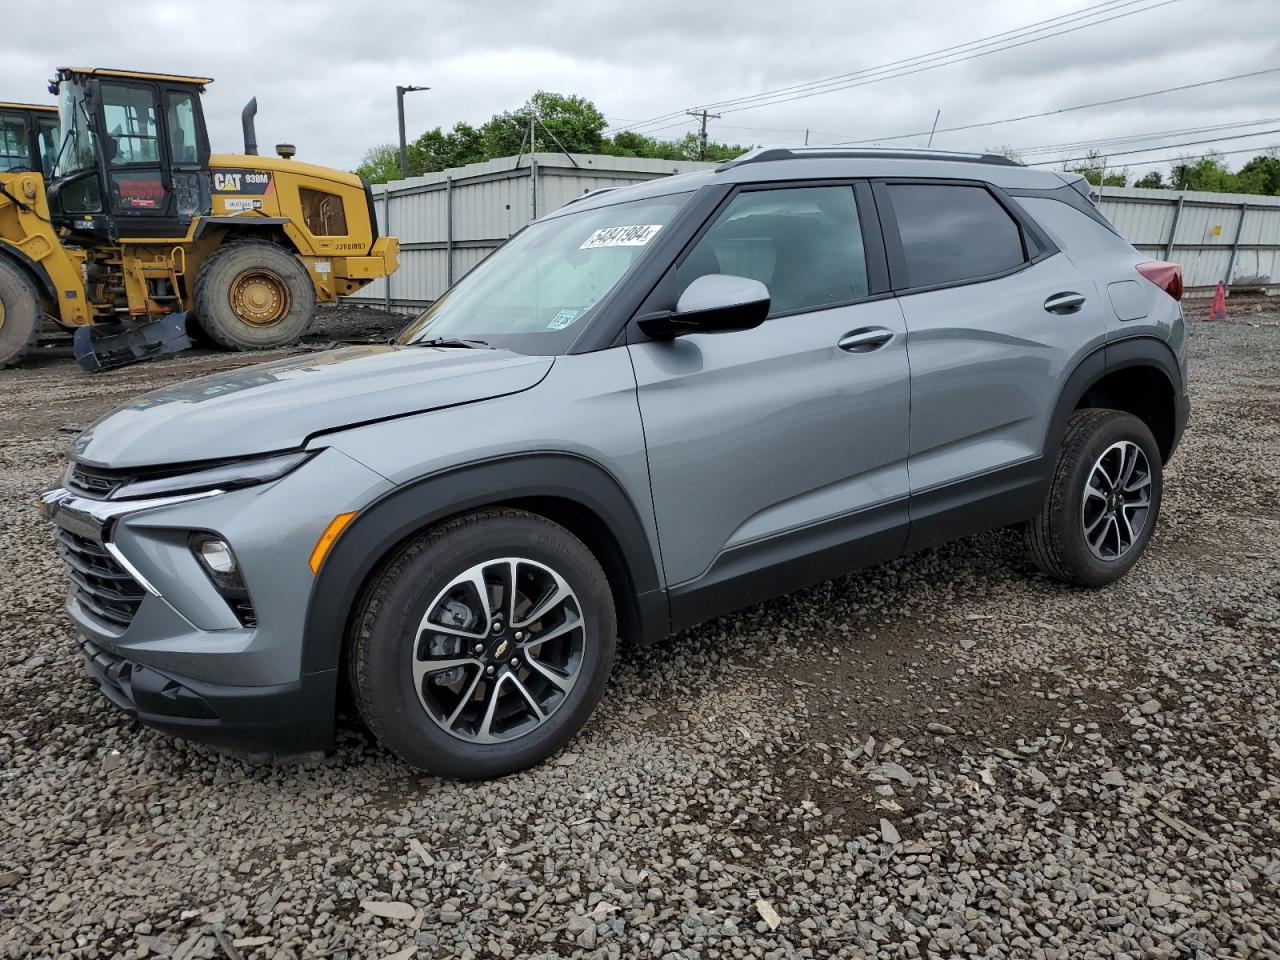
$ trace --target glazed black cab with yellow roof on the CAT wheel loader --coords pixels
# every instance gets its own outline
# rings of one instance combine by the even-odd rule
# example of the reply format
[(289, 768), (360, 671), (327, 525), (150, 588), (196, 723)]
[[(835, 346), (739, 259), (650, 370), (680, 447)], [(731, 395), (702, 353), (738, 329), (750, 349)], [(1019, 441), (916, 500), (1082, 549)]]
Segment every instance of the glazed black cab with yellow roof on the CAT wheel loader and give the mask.
[(200, 95), (211, 82), (60, 68), (50, 84), (63, 131), (49, 186), (55, 223), (113, 242), (184, 236), (210, 209)]

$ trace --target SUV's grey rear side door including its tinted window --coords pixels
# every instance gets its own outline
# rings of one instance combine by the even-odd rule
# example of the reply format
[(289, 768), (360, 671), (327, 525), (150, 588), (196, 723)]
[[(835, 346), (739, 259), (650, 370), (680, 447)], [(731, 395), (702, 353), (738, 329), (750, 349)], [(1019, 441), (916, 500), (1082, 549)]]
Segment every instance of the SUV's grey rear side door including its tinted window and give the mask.
[(991, 184), (876, 198), (911, 364), (915, 549), (1034, 513), (1062, 381), (1106, 329), (1092, 280)]

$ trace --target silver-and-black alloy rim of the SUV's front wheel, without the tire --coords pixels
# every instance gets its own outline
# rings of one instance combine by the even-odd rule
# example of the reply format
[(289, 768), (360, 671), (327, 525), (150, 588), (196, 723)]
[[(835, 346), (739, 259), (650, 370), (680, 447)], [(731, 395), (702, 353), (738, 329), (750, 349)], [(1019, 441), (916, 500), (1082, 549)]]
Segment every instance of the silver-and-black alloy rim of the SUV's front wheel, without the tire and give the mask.
[(436, 594), (417, 627), (419, 703), (460, 740), (525, 736), (577, 682), (585, 628), (577, 596), (547, 564), (522, 557), (477, 563)]

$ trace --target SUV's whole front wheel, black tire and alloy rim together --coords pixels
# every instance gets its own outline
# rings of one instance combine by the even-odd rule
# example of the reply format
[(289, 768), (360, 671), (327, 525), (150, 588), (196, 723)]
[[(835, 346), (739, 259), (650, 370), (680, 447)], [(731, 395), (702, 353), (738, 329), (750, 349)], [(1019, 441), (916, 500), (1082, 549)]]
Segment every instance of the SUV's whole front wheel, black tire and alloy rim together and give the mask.
[(576, 536), (525, 511), (474, 513), (375, 577), (352, 636), (356, 705), (420, 769), (500, 777), (581, 728), (616, 636), (608, 579)]

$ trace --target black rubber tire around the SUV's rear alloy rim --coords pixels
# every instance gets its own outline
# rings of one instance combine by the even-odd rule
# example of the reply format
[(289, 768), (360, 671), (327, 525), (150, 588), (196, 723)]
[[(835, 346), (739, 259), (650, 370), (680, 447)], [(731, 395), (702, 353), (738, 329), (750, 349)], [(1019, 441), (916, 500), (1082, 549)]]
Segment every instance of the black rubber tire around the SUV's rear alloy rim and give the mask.
[[(1117, 443), (1133, 443), (1146, 457), (1149, 507), (1142, 527), (1124, 552), (1100, 557), (1085, 538), (1085, 484), (1100, 457)], [(1164, 494), (1160, 447), (1138, 417), (1116, 410), (1080, 410), (1066, 425), (1048, 497), (1039, 515), (1027, 524), (1024, 540), (1032, 561), (1057, 580), (1079, 586), (1111, 584), (1133, 567), (1147, 549)]]

